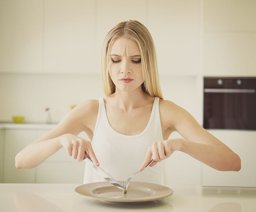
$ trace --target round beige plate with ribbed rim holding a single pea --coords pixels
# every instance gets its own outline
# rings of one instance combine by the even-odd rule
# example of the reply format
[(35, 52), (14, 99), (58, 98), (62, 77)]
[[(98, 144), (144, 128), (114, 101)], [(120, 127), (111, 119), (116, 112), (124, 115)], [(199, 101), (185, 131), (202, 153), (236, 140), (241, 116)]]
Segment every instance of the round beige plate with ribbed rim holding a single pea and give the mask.
[[(125, 185), (125, 181), (118, 181)], [(130, 182), (127, 193), (111, 185), (109, 182), (95, 182), (78, 186), (75, 191), (84, 197), (103, 202), (145, 202), (172, 195), (173, 190), (154, 183)]]

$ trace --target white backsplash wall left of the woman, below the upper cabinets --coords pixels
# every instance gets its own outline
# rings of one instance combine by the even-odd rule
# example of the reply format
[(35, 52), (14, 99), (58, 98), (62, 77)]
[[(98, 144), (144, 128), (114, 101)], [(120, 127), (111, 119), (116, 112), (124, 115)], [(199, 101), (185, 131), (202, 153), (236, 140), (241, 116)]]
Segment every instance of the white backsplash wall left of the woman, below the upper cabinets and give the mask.
[(1, 121), (25, 116), (24, 122), (44, 123), (50, 107), (53, 123), (67, 114), (71, 105), (103, 95), (97, 75), (2, 74), (0, 75)]

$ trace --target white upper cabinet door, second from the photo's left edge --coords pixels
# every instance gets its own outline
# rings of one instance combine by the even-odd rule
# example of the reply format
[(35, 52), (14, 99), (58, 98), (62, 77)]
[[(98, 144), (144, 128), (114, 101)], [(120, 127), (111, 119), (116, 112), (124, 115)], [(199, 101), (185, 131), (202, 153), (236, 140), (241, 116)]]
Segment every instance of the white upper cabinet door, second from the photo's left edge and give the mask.
[(46, 0), (44, 10), (45, 72), (95, 73), (94, 1)]

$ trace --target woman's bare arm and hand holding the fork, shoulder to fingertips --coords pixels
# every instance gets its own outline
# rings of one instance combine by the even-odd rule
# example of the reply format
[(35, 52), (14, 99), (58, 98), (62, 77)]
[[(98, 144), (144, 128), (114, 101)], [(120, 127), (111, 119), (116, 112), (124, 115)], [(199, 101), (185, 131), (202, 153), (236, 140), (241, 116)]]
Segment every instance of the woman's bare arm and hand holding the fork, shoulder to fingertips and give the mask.
[(174, 151), (182, 151), (193, 158), (220, 171), (239, 171), (241, 159), (229, 147), (223, 144), (182, 107), (173, 102), (164, 101), (161, 112), (174, 128), (185, 139), (170, 139), (155, 142), (148, 148), (146, 159), (140, 167), (143, 170), (149, 163), (151, 156), (155, 160), (150, 166), (168, 158)]

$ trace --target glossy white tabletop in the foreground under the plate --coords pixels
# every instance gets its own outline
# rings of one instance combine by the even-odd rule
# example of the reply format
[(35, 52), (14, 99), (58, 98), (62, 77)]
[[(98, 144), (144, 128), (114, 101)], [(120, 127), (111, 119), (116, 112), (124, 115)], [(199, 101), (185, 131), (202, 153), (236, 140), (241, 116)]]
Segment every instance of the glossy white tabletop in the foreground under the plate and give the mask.
[(255, 212), (255, 187), (169, 186), (174, 193), (162, 200), (142, 203), (106, 203), (75, 192), (81, 184), (0, 183), (0, 211), (168, 211)]

